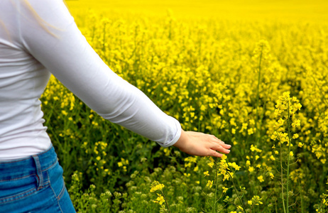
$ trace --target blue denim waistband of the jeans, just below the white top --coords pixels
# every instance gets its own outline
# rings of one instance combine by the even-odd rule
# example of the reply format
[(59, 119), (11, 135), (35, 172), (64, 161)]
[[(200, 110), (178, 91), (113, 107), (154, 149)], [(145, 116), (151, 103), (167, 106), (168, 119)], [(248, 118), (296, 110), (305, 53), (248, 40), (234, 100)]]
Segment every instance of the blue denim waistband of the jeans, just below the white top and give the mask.
[[(40, 175), (58, 162), (53, 145), (47, 151), (28, 158), (0, 162), (0, 182)], [(42, 175), (41, 175), (42, 176)]]

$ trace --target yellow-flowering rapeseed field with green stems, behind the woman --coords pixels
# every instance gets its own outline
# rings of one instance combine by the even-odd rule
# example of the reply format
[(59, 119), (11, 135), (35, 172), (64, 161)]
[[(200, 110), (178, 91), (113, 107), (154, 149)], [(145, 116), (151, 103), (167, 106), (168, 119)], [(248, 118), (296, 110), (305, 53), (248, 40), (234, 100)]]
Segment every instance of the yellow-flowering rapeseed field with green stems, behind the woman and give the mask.
[(67, 1), (111, 70), (232, 145), (160, 148), (51, 77), (45, 126), (78, 212), (328, 212), (328, 4), (231, 2)]

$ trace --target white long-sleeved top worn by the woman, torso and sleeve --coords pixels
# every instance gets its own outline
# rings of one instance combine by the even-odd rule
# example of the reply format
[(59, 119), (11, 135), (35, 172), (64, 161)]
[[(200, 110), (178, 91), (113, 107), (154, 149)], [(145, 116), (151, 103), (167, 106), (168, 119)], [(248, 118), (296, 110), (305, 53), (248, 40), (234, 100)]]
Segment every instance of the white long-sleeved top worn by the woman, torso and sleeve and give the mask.
[(51, 74), (104, 119), (163, 147), (180, 138), (180, 123), (99, 58), (62, 0), (1, 0), (0, 161), (50, 147), (39, 99)]

